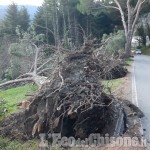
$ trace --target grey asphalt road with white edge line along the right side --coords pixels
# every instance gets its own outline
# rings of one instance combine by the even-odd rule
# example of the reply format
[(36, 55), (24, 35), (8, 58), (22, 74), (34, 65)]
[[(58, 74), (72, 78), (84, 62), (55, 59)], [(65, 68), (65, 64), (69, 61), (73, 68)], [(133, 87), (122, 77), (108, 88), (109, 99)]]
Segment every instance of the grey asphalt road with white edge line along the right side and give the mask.
[(143, 135), (148, 142), (150, 150), (150, 57), (137, 55), (133, 64), (133, 90), (134, 103), (144, 112), (145, 117), (141, 120)]

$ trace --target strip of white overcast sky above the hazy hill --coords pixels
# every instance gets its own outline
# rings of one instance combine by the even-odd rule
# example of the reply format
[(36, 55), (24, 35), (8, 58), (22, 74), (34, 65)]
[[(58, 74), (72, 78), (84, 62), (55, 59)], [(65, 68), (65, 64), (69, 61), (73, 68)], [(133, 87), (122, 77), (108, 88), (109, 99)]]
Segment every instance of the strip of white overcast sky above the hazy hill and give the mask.
[(18, 5), (42, 5), (44, 0), (0, 0), (0, 5), (9, 5), (12, 2)]

